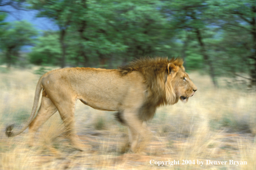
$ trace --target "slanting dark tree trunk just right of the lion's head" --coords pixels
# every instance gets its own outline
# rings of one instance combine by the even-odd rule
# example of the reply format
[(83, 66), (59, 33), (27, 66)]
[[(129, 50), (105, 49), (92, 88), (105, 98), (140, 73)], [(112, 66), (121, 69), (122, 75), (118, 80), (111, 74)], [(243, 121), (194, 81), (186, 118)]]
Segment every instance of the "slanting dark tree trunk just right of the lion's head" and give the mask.
[(200, 44), (200, 47), (201, 47), (200, 51), (201, 51), (201, 54), (204, 57), (204, 62), (205, 62), (205, 64), (207, 64), (210, 67), (210, 77), (213, 81), (213, 85), (215, 87), (217, 87), (217, 82), (216, 82), (216, 76), (215, 76), (215, 70), (214, 70), (214, 67), (213, 67), (213, 63), (210, 61), (210, 58), (207, 55), (207, 52), (205, 50), (205, 45), (204, 45), (204, 42), (202, 41), (201, 32), (198, 28), (196, 28), (195, 33), (196, 33), (196, 36), (197, 36), (197, 39), (198, 39), (198, 43)]

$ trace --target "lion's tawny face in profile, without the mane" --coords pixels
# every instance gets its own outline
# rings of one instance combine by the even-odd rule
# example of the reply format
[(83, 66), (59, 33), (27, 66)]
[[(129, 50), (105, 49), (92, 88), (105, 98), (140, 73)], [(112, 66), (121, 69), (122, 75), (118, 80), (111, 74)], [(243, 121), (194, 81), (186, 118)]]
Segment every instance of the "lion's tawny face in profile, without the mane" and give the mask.
[(197, 91), (197, 87), (189, 79), (188, 73), (186, 73), (182, 68), (179, 68), (176, 75), (172, 80), (172, 87), (176, 94), (176, 100), (179, 99), (186, 103), (189, 100), (189, 97), (192, 97)]

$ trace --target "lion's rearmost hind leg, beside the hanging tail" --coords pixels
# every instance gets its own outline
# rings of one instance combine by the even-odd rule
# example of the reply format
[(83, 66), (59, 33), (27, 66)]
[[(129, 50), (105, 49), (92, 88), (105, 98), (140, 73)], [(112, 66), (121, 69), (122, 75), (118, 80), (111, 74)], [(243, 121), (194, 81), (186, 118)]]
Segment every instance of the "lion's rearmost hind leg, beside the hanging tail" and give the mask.
[(46, 122), (55, 112), (57, 112), (57, 108), (52, 103), (52, 101), (42, 96), (41, 105), (37, 112), (36, 117), (29, 125), (29, 145), (33, 146), (34, 136), (37, 129)]

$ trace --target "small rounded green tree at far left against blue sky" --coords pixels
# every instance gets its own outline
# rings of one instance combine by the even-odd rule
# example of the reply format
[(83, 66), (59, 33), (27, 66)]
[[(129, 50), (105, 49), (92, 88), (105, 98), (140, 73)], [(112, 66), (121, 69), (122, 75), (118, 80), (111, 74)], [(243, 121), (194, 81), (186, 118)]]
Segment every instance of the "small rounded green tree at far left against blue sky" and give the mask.
[(10, 67), (18, 57), (22, 46), (33, 45), (37, 31), (26, 21), (14, 21), (1, 26), (0, 49), (5, 53), (5, 62)]

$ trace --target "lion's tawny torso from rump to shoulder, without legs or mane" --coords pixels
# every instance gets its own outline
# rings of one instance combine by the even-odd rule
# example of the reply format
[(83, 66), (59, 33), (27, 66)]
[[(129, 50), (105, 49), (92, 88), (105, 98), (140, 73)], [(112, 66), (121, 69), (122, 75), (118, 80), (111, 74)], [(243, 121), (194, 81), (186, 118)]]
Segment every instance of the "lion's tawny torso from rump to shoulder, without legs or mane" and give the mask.
[(95, 109), (114, 111), (142, 103), (143, 82), (137, 71), (122, 76), (118, 70), (76, 67), (52, 71), (42, 84), (47, 93), (69, 93)]

